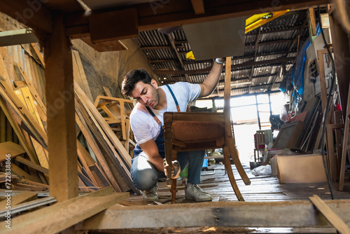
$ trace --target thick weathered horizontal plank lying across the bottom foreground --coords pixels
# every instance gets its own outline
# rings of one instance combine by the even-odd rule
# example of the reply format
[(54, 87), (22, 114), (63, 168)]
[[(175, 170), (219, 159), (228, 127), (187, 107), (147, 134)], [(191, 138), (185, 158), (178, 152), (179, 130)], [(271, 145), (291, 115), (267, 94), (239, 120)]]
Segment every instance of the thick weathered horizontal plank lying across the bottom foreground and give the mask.
[[(325, 203), (350, 223), (350, 200)], [(167, 215), (169, 212), (172, 215)], [(295, 215), (297, 214), (297, 215)], [(268, 215), (268, 219), (265, 219)], [(176, 218), (174, 218), (176, 217)], [(137, 222), (130, 221), (137, 220)], [(193, 227), (330, 227), (310, 201), (199, 202), (172, 205), (118, 207), (83, 221), (80, 230), (117, 228)]]

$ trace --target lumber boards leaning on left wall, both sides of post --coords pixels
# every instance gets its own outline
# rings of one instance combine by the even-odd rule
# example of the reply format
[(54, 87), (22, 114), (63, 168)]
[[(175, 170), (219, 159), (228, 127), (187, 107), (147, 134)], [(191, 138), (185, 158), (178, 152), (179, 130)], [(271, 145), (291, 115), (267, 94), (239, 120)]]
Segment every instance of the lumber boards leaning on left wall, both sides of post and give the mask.
[[(3, 60), (0, 53), (0, 107), (3, 113), (0, 115), (0, 123), (5, 121), (5, 127), (0, 125), (0, 128), (6, 128), (6, 131), (0, 130), (1, 142), (4, 142), (0, 145), (0, 151), (8, 153), (10, 147), (17, 152), (11, 153), (11, 172), (18, 178), (12, 189), (43, 191), (49, 188), (46, 118), (50, 106), (46, 108), (45, 105), (45, 64), (36, 44), (31, 46), (36, 52), (35, 56), (21, 46), (15, 46), (22, 51), (15, 53), (16, 59), (10, 53), (14, 46), (8, 47), (10, 49), (6, 60)], [(11, 58), (13, 61), (9, 62)], [(117, 192), (140, 193), (132, 184), (130, 154), (92, 104), (91, 92), (77, 51), (73, 51), (73, 71), (79, 190), (88, 192), (112, 186)], [(13, 132), (11, 137), (10, 134), (2, 137), (7, 132)], [(0, 158), (0, 169), (3, 172), (6, 158), (2, 156), (5, 153)]]

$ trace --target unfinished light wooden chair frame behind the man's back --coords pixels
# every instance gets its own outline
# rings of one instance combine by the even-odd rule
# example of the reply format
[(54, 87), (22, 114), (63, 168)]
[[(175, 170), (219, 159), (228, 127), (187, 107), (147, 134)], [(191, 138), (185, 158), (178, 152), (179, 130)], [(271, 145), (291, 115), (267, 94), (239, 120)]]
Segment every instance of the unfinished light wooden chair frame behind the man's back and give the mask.
[[(127, 108), (127, 104), (130, 104), (131, 108)], [(94, 106), (100, 113), (103, 111), (106, 113), (107, 117), (104, 117), (104, 120), (111, 125), (113, 132), (116, 132), (116, 135), (123, 139), (123, 144), (127, 151), (129, 151), (129, 144), (136, 145), (132, 140), (133, 137), (129, 118), (132, 106), (134, 106), (132, 100), (98, 96), (94, 101)]]

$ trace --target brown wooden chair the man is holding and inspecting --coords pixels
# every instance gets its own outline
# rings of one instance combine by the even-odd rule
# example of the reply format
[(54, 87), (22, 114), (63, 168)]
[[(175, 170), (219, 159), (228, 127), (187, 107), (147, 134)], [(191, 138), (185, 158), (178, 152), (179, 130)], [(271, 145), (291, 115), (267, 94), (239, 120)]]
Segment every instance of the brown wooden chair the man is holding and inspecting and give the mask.
[[(251, 184), (238, 157), (235, 141), (232, 135), (230, 116), (230, 81), (231, 81), (231, 57), (226, 59), (224, 112), (223, 113), (186, 113), (166, 112), (165, 123), (165, 169), (170, 176), (172, 173), (172, 161), (176, 160), (179, 151), (195, 151), (200, 149), (223, 149), (225, 168), (233, 190), (239, 201), (244, 198), (239, 191), (232, 172), (230, 155), (235, 163), (239, 175), (244, 184)], [(176, 179), (168, 176), (167, 185), (172, 186), (172, 203), (176, 202)]]

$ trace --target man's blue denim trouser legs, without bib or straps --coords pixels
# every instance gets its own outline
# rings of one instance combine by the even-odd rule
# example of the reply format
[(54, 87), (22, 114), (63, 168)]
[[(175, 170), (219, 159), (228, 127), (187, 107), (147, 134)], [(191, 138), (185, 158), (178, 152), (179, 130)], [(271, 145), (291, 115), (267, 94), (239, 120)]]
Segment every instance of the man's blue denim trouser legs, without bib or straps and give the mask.
[[(181, 170), (188, 165), (188, 183), (200, 184), (200, 172), (202, 171), (205, 151), (179, 152), (177, 160)], [(165, 178), (164, 172), (160, 172), (148, 161), (144, 152), (132, 159), (131, 167), (132, 183), (139, 190), (149, 190), (157, 184), (158, 179)]]

